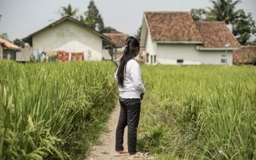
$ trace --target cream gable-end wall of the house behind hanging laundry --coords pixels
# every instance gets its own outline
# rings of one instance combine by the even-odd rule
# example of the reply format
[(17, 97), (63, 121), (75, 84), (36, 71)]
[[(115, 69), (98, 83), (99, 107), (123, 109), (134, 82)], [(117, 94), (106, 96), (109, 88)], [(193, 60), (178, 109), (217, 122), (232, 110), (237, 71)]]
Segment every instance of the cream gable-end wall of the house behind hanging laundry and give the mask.
[[(79, 24), (66, 20), (32, 37), (33, 52), (84, 52), (85, 60), (102, 60), (102, 39)], [(91, 53), (91, 57), (89, 57)]]

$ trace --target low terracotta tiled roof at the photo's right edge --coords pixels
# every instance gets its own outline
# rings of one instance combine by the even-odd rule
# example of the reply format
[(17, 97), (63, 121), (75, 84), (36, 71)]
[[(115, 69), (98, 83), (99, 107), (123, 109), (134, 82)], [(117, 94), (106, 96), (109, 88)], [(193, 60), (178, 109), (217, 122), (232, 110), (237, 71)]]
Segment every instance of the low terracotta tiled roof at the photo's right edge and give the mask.
[(242, 46), (233, 51), (233, 64), (249, 64), (253, 59), (256, 59), (256, 45)]

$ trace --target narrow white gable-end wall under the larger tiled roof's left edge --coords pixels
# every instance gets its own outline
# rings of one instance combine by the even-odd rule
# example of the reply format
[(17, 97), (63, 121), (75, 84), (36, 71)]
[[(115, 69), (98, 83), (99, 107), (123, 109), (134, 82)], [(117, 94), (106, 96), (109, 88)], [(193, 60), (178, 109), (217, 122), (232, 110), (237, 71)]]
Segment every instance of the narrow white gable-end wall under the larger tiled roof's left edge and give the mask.
[(153, 64), (154, 56), (157, 53), (157, 43), (155, 43), (151, 40), (150, 32), (147, 33), (147, 41), (146, 41), (146, 45), (145, 45), (145, 50), (146, 50), (146, 54), (149, 55), (149, 56), (147, 56), (147, 61), (145, 63)]

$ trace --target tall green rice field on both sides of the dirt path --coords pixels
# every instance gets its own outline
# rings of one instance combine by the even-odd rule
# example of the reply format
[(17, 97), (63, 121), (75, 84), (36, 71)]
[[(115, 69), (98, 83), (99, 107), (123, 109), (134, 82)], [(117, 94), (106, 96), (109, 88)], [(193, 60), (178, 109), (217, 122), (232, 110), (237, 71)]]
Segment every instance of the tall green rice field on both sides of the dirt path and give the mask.
[[(0, 159), (83, 159), (117, 100), (115, 64), (0, 68)], [(141, 69), (139, 150), (159, 159), (255, 159), (255, 67)]]

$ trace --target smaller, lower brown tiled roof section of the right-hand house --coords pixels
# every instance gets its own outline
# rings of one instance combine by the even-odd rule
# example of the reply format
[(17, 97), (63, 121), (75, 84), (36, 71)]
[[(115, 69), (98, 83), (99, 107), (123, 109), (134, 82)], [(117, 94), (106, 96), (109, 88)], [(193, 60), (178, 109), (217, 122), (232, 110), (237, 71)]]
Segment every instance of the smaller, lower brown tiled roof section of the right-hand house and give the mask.
[(202, 47), (225, 48), (225, 44), (230, 44), (230, 48), (240, 46), (224, 21), (202, 21), (196, 24), (203, 38)]

